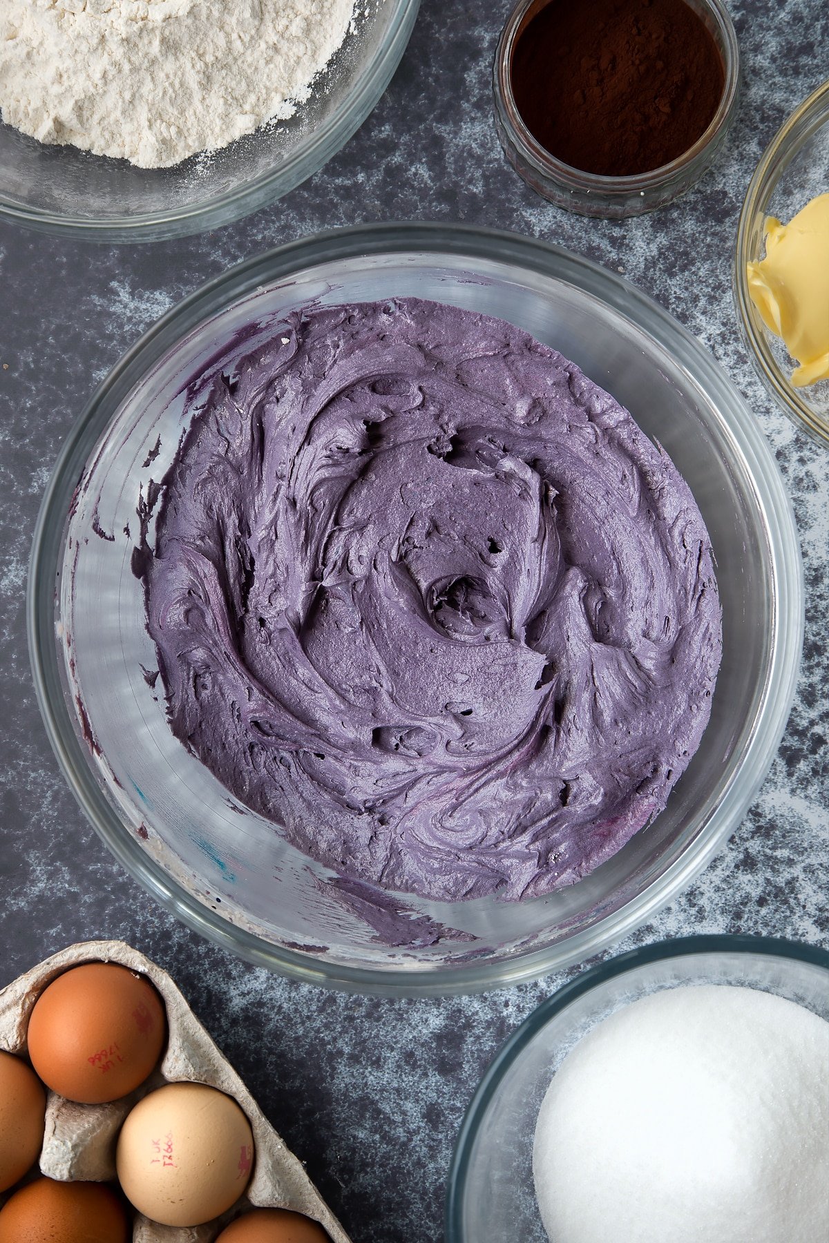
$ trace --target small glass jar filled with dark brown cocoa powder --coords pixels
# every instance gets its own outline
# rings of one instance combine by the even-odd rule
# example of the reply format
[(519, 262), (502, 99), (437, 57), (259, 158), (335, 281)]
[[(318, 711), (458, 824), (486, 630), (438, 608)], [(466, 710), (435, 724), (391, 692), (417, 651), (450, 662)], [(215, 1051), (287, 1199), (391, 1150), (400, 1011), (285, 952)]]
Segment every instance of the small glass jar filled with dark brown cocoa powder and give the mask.
[(738, 85), (721, 0), (518, 0), (495, 58), (496, 128), (551, 203), (621, 219), (708, 168)]

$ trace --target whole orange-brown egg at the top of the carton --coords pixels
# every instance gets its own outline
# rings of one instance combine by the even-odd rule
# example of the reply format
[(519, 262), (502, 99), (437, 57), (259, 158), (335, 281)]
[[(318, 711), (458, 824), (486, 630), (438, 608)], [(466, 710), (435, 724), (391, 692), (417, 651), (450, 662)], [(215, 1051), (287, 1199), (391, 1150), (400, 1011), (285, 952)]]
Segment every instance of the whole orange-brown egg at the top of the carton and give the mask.
[(143, 976), (87, 962), (53, 979), (29, 1019), (29, 1057), (52, 1091), (101, 1105), (147, 1079), (167, 1039), (164, 1003)]

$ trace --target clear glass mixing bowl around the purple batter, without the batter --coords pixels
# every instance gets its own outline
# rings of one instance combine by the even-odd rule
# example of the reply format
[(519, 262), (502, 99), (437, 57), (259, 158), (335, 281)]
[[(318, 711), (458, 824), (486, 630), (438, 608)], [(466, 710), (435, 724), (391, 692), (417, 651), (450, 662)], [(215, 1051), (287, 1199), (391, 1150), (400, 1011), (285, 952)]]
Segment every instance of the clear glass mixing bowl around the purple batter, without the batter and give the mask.
[[(249, 351), (292, 308), (394, 296), (511, 319), (633, 411), (670, 452), (707, 523), (725, 649), (702, 745), (653, 824), (546, 897), (399, 895), (410, 943), (390, 947), (343, 906), (327, 869), (241, 809), (175, 741), (163, 695), (142, 671), (157, 667), (155, 654), (129, 562), (139, 490), (162, 477), (175, 450), (188, 379), (231, 365), (234, 351)], [(244, 343), (229, 346), (241, 328)], [(777, 750), (798, 671), (803, 579), (768, 445), (711, 355), (661, 307), (544, 242), (460, 225), (370, 225), (242, 264), (164, 316), (114, 368), (72, 429), (44, 498), (29, 628), (40, 706), (66, 777), (109, 849), (157, 899), (244, 957), (303, 979), (444, 993), (595, 953), (698, 874), (742, 820)]]

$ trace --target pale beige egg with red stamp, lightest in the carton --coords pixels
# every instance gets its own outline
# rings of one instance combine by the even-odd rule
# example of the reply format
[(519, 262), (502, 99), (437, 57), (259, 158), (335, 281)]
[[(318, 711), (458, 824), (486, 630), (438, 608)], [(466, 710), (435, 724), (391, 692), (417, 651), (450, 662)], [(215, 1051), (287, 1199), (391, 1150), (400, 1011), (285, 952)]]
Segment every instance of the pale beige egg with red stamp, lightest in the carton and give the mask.
[(205, 1084), (167, 1084), (127, 1115), (116, 1165), (139, 1212), (163, 1226), (200, 1226), (245, 1191), (254, 1136), (230, 1096)]

